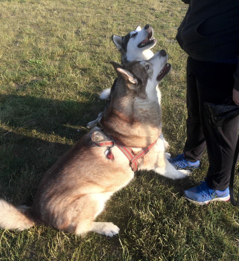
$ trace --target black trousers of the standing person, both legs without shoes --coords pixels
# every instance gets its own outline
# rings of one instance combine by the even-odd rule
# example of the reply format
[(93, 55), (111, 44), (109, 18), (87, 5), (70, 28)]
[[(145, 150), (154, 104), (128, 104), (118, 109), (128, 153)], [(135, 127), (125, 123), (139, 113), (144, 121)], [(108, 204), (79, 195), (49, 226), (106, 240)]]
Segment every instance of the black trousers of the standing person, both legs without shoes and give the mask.
[(239, 116), (222, 128), (212, 127), (204, 102), (223, 104), (232, 96), (233, 73), (237, 64), (187, 60), (187, 160), (200, 160), (207, 147), (209, 169), (206, 176), (211, 189), (224, 190), (229, 185), (233, 156), (238, 139)]

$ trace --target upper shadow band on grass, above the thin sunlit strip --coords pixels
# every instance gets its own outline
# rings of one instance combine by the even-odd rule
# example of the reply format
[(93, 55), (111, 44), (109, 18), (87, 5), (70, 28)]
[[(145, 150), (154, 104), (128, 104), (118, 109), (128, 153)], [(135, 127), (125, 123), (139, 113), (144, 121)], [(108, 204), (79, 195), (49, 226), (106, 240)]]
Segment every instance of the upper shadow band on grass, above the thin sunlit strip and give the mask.
[[(85, 97), (89, 94), (85, 92)], [(27, 95), (0, 95), (0, 119), (10, 128), (58, 135), (76, 142), (97, 118), (105, 101), (59, 101)], [(79, 129), (79, 131), (77, 131)], [(34, 133), (33, 133), (34, 134)]]

